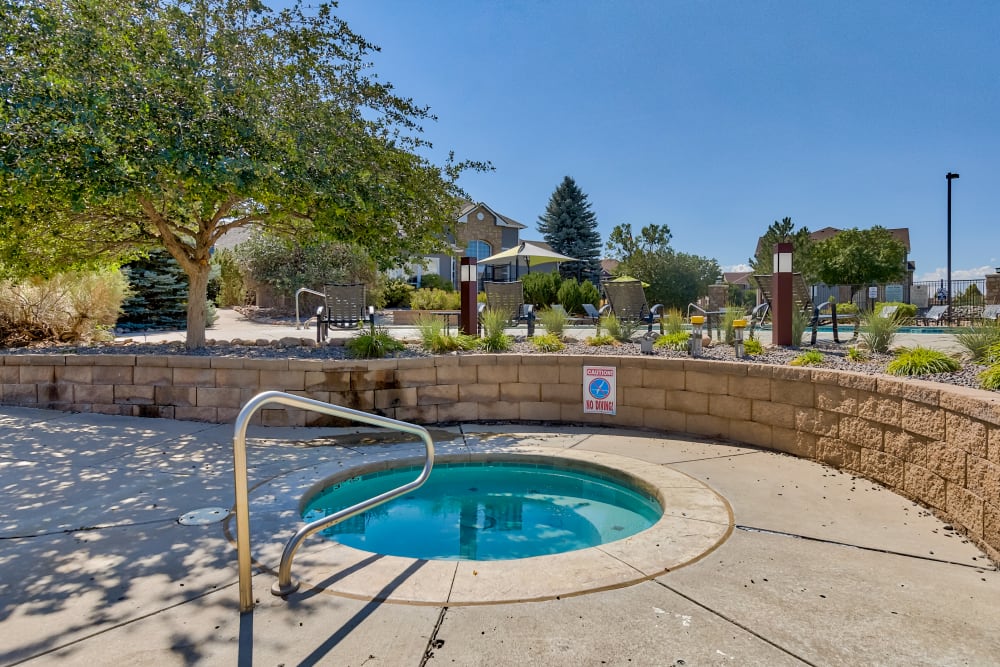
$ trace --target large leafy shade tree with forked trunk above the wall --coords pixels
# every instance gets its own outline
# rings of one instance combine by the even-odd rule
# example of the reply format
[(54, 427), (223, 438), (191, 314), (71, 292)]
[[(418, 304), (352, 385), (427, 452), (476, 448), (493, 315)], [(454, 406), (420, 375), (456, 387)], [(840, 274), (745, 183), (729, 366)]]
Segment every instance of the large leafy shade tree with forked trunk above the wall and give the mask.
[(429, 111), (370, 73), (334, 14), (259, 0), (0, 0), (0, 265), (44, 274), (162, 246), (205, 341), (226, 232), (440, 247), (463, 169), (420, 156)]

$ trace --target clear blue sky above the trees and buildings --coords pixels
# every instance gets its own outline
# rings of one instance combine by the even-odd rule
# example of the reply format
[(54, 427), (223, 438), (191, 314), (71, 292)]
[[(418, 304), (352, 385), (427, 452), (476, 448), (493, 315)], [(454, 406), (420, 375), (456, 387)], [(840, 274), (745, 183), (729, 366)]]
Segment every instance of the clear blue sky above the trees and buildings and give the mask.
[[(1000, 265), (1000, 2), (342, 0), (374, 71), (438, 116), (441, 162), (529, 226), (563, 176), (603, 239), (665, 224), (745, 264), (790, 216), (909, 227), (918, 280)], [(966, 275), (966, 273), (971, 275)]]

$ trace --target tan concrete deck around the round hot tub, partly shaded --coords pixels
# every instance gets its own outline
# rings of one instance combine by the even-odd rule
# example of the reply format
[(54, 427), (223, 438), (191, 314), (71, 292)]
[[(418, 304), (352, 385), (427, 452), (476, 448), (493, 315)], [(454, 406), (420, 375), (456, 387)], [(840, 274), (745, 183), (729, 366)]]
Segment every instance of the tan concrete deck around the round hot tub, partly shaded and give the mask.
[[(248, 435), (252, 487), (416, 447), (367, 429)], [(386, 576), (388, 559), (375, 555), (314, 571), (287, 600), (271, 595), (273, 573), (255, 571), (258, 604), (241, 615), (223, 522), (178, 521), (231, 507), (231, 425), (0, 407), (0, 663), (976, 665), (1000, 655), (1000, 573), (928, 511), (872, 482), (683, 435), (464, 424), (434, 437), (450, 453), (608, 454), (685, 475), (725, 499), (732, 531), (665, 574), (536, 602), (331, 592), (378, 573), (378, 597), (391, 597), (425, 567), (396, 564)], [(257, 550), (283, 543), (261, 530), (251, 539)], [(537, 575), (508, 576), (525, 586)]]

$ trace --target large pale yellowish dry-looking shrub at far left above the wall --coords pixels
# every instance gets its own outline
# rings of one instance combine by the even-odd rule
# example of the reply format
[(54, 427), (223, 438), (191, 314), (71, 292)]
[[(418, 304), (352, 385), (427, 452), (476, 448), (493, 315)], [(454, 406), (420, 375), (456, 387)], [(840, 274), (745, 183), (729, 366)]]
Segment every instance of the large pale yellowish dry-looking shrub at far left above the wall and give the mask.
[(117, 268), (0, 282), (0, 346), (110, 339), (128, 293)]

